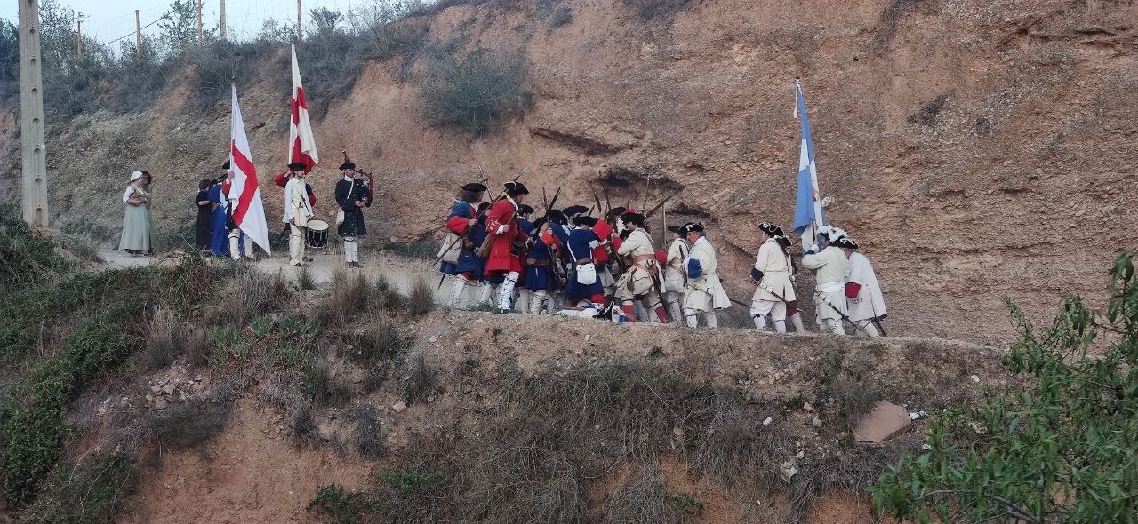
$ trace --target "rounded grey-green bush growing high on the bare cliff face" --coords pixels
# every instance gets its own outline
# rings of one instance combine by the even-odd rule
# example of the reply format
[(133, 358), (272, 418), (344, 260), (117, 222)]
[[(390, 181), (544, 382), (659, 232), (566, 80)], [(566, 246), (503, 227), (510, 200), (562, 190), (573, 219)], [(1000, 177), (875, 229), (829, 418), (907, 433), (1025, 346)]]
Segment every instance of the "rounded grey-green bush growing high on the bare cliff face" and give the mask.
[(476, 49), (464, 56), (437, 56), (420, 80), (427, 118), (432, 125), (456, 126), (475, 136), (533, 107), (523, 90), (526, 58)]

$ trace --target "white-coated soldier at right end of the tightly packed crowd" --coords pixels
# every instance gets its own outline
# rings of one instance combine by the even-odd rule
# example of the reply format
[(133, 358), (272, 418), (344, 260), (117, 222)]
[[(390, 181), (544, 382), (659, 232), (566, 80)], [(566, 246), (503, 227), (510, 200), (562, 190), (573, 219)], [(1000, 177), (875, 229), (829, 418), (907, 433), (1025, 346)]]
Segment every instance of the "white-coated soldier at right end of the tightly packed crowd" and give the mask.
[(715, 248), (703, 236), (703, 224), (687, 223), (683, 227), (684, 235), (692, 250), (684, 260), (687, 273), (687, 285), (684, 288), (684, 317), (688, 327), (699, 325), (699, 317), (708, 327), (718, 327), (716, 309), (731, 307), (731, 299), (719, 282), (719, 263)]

